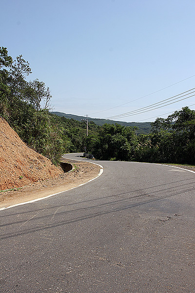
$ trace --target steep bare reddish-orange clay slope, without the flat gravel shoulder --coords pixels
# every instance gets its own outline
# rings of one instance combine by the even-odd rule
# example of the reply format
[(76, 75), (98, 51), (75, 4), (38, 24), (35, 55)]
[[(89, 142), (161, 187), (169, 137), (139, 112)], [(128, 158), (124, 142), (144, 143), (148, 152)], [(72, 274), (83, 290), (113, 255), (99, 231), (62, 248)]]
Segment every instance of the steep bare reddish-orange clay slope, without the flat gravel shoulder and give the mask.
[(56, 178), (63, 171), (26, 146), (9, 124), (0, 118), (0, 190)]

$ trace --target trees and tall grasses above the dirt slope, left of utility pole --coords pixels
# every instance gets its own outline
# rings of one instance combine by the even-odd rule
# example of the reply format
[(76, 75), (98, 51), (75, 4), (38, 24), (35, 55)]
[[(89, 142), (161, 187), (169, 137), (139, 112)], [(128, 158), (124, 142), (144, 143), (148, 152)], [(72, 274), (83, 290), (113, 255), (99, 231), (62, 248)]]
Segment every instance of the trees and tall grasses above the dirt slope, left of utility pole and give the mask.
[[(27, 82), (31, 73), (22, 55), (13, 60), (7, 48), (0, 47), (0, 117), (29, 147), (57, 165), (63, 153), (83, 150), (86, 125), (49, 113), (50, 89), (38, 79)], [(90, 123), (89, 133), (95, 135), (98, 128)]]

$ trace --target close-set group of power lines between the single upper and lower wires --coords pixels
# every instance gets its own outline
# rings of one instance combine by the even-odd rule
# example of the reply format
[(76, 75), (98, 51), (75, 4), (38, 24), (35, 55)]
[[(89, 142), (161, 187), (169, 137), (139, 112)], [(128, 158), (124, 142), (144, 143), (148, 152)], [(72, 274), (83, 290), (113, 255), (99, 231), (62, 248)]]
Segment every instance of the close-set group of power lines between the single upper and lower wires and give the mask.
[[(168, 100), (174, 101), (174, 100), (180, 99), (180, 98), (182, 98), (182, 97), (184, 97), (184, 96), (187, 96), (187, 95), (189, 95), (189, 94), (192, 94), (193, 92), (191, 92), (191, 93), (189, 93), (189, 92), (192, 91), (193, 89), (195, 89), (195, 88), (189, 89), (189, 90), (187, 90), (187, 91), (185, 91), (185, 92), (182, 92), (182, 93), (180, 93), (180, 94), (178, 94), (178, 95), (176, 95), (176, 96), (173, 96), (173, 97), (171, 97), (171, 98), (168, 98), (168, 99), (162, 100), (162, 101), (157, 102), (157, 103), (155, 103), (155, 104), (151, 104), (151, 105), (148, 105), (148, 106), (145, 106), (145, 107), (142, 107), (142, 108), (139, 108), (139, 109), (137, 109), (137, 110), (130, 111), (130, 112), (126, 112), (126, 113), (122, 113), (122, 114), (118, 114), (118, 115), (114, 115), (114, 116), (106, 117), (106, 119), (110, 119), (110, 118), (121, 118), (121, 117), (123, 117), (123, 116), (126, 117), (127, 114), (129, 115), (129, 114), (133, 114), (133, 113), (136, 113), (136, 112), (143, 111), (144, 109), (146, 110), (146, 109), (149, 109), (149, 108), (153, 108), (153, 107), (155, 107), (156, 105), (166, 104), (166, 103), (168, 103)], [(195, 92), (195, 91), (194, 91), (194, 92)], [(185, 94), (185, 93), (188, 93), (188, 94)], [(181, 96), (182, 94), (185, 94), (185, 95)], [(176, 97), (177, 97), (177, 98), (176, 98)], [(174, 98), (175, 98), (175, 99), (174, 99)], [(166, 102), (165, 102), (165, 101), (166, 101)], [(169, 102), (170, 102), (170, 101), (169, 101)], [(168, 104), (168, 105), (169, 105), (169, 104)], [(137, 114), (138, 114), (138, 113), (137, 113)]]

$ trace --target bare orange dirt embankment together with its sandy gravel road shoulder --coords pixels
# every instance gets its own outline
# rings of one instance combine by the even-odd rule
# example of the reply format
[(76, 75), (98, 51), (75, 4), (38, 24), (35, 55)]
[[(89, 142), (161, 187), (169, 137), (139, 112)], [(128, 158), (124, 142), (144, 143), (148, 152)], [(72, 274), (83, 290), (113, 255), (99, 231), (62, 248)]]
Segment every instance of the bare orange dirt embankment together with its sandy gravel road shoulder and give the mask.
[[(99, 167), (91, 163), (72, 165), (73, 170), (64, 173), (49, 159), (26, 146), (0, 118), (0, 208), (76, 187), (99, 173)], [(14, 190), (10, 190), (12, 188)]]

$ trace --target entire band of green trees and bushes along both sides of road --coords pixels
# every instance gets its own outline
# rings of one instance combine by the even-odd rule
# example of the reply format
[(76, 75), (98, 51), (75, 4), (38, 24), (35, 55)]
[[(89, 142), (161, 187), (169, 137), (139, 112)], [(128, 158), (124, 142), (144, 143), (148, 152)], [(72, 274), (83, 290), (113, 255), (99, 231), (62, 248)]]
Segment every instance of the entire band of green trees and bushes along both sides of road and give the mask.
[(0, 116), (31, 148), (58, 164), (65, 152), (93, 153), (101, 160), (195, 164), (195, 110), (184, 107), (167, 119), (151, 123), (149, 134), (119, 124), (98, 126), (59, 117), (51, 110), (49, 87), (38, 79), (26, 81), (30, 64), (22, 55), (13, 60), (0, 47)]

